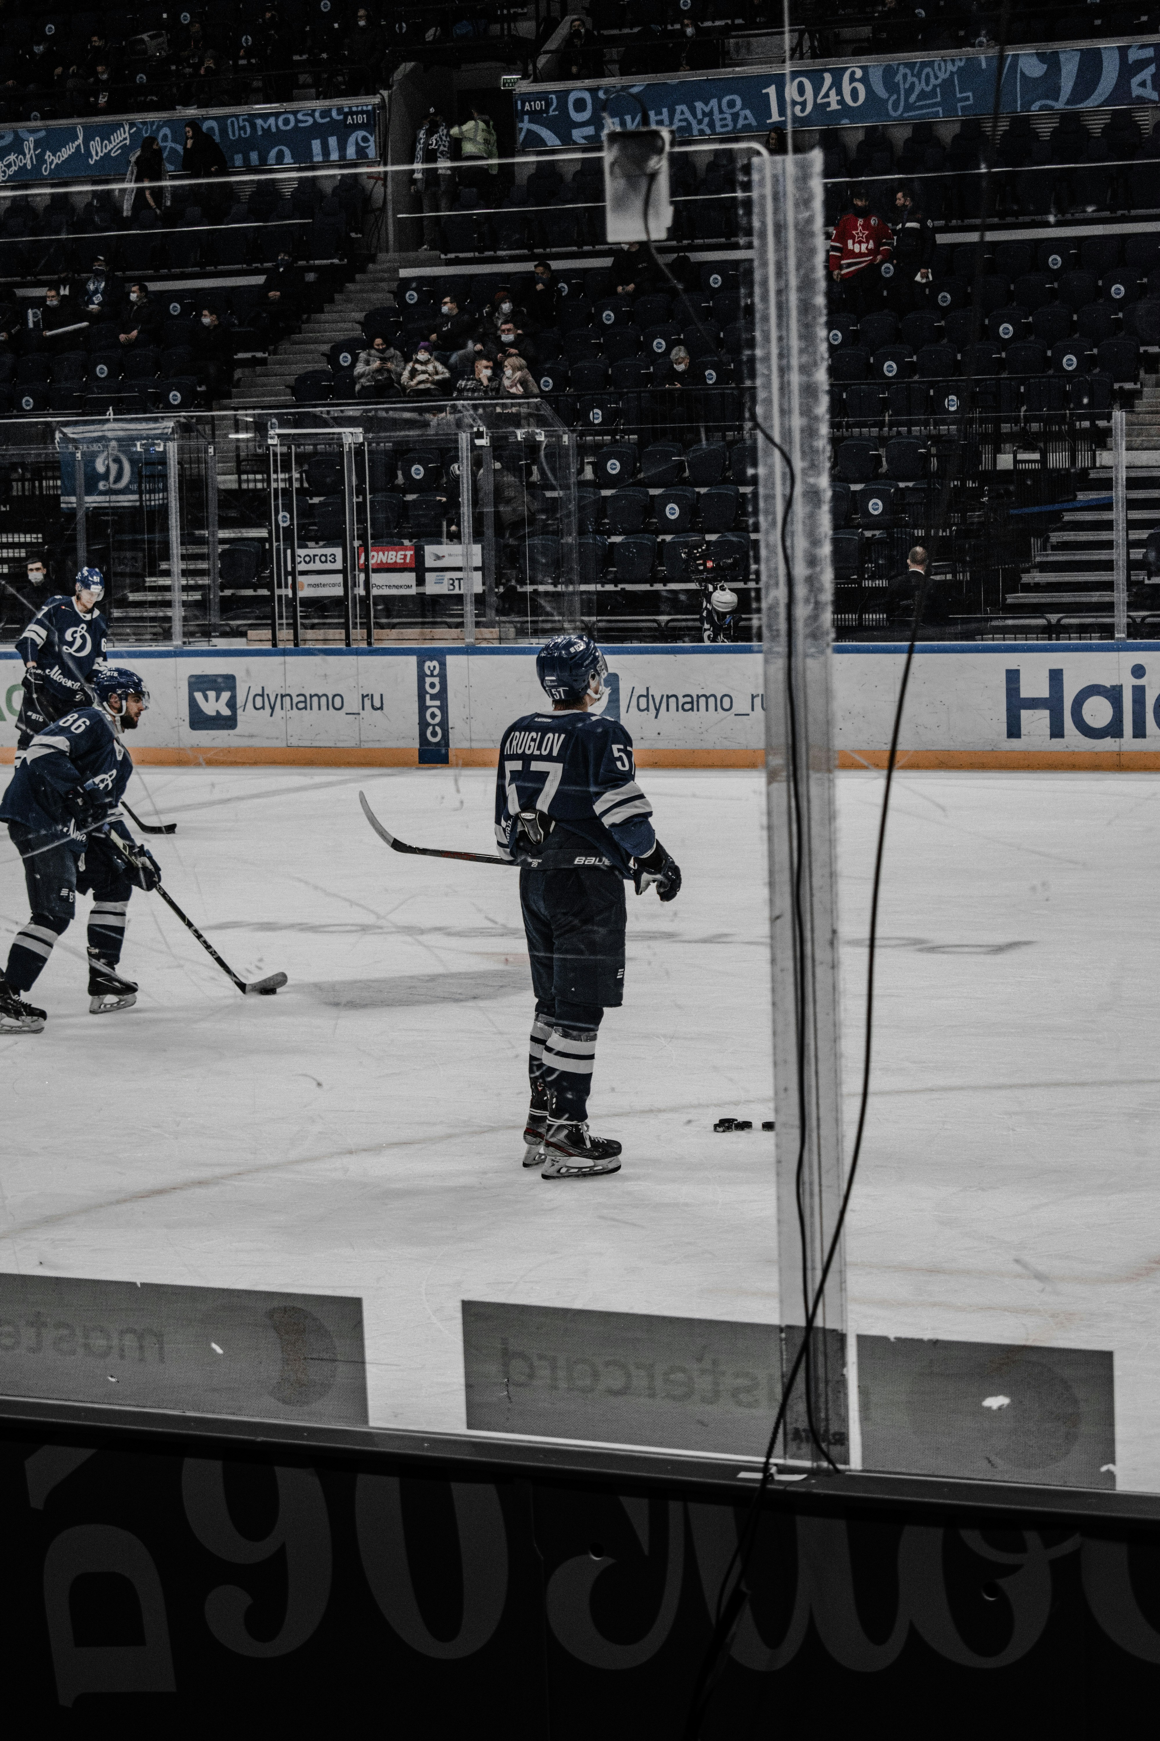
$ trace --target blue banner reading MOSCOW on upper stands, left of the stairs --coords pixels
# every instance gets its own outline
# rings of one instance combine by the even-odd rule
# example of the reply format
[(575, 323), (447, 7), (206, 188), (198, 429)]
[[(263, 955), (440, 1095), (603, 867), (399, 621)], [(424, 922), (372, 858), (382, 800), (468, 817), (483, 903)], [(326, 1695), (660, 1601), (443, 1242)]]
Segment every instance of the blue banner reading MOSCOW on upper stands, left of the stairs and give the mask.
[(146, 134), (160, 143), (165, 167), (181, 169), (186, 122), (198, 120), (231, 169), (282, 164), (376, 162), (377, 99), (332, 108), (190, 111), (111, 120), (73, 120), (0, 131), (0, 185), (12, 181), (123, 179)]

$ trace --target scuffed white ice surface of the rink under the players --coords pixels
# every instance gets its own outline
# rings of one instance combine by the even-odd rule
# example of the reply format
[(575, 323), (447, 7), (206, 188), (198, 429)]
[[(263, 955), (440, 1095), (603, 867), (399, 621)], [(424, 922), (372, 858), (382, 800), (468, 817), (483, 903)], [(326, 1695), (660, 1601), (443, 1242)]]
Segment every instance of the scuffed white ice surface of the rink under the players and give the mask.
[[(520, 1166), (532, 1008), (494, 775), (143, 770), (165, 881), (242, 999), (136, 895), (134, 1012), (90, 1017), (83, 928), (2, 1039), (0, 1269), (358, 1294), (370, 1421), (463, 1429), (464, 1297), (776, 1321), (762, 776), (647, 771), (685, 886), (630, 890), (593, 1128), (619, 1175)], [(148, 797), (146, 797), (148, 792)], [(847, 1144), (875, 773), (838, 776)], [(1160, 1489), (1160, 776), (903, 773), (850, 1327), (1115, 1349), (1118, 1485)], [(0, 919), (26, 918), (0, 836)], [(87, 900), (80, 902), (87, 911)], [(0, 958), (2, 959), (2, 958)]]

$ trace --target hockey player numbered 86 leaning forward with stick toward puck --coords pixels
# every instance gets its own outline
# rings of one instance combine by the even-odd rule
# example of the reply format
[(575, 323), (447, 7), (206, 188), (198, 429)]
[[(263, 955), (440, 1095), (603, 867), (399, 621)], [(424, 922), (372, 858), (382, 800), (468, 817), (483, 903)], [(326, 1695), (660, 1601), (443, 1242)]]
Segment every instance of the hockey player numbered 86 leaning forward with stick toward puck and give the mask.
[(97, 665), (96, 707), (77, 707), (40, 731), (17, 752), (12, 782), (0, 801), (0, 820), (24, 860), (31, 918), (16, 933), (0, 975), (0, 1032), (37, 1034), (45, 1012), (24, 1003), (68, 930), (77, 891), (92, 891), (89, 916), (89, 1008), (94, 1015), (127, 1010), (137, 987), (117, 973), (129, 897), (151, 890), (160, 870), (120, 815), (132, 761), (122, 742), (150, 703), (132, 670)]

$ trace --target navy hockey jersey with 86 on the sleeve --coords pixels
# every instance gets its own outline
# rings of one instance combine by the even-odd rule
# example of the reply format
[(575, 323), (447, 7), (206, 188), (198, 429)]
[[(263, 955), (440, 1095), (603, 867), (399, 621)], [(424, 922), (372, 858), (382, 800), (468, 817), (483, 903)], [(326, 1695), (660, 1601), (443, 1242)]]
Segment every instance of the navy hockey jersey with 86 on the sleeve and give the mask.
[(38, 731), (23, 752), (0, 799), (0, 822), (23, 822), (37, 834), (68, 839), (82, 853), (85, 836), (77, 832), (63, 794), (96, 780), (110, 797), (104, 820), (111, 820), (120, 815), (130, 773), (132, 757), (104, 709), (78, 707)]

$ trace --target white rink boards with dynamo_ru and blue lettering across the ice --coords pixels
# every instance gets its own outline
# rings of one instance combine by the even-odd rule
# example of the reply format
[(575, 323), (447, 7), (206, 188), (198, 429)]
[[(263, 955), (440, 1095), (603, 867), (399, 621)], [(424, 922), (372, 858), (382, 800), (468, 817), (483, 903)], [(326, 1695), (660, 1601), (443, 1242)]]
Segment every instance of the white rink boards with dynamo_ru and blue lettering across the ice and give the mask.
[[(833, 649), (842, 766), (880, 764), (904, 648)], [(487, 766), (504, 728), (543, 705), (536, 648), (118, 648), (151, 705), (143, 763)], [(21, 662), (0, 653), (0, 759)], [(642, 766), (760, 766), (762, 649), (631, 646), (609, 655), (609, 712)], [(1160, 770), (1160, 642), (927, 642), (901, 733), (915, 768)]]

